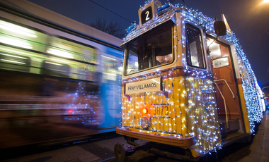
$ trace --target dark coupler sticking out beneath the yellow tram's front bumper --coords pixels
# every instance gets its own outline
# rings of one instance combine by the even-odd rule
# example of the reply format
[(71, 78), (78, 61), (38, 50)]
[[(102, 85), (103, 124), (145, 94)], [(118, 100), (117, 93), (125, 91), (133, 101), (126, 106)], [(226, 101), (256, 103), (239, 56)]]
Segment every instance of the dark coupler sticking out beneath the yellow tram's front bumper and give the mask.
[(128, 156), (131, 156), (132, 154), (135, 153), (135, 151), (137, 151), (139, 149), (143, 149), (144, 147), (147, 146), (147, 144), (139, 145), (135, 142), (129, 142), (129, 141), (128, 141), (128, 143), (135, 145), (135, 146), (129, 145), (127, 147), (124, 147), (124, 144), (120, 144), (120, 143), (115, 144), (114, 155), (115, 155), (115, 159), (117, 162), (126, 161)]

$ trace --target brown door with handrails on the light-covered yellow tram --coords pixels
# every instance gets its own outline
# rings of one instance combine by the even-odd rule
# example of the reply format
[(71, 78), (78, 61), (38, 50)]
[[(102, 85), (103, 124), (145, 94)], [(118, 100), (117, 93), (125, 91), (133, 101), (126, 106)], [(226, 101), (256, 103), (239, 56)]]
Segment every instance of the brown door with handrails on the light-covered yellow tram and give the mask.
[[(214, 82), (216, 83), (215, 90), (222, 137), (238, 131), (243, 132), (239, 94), (236, 89), (236, 79), (229, 46), (211, 38), (207, 38), (207, 44), (210, 44), (210, 63), (212, 73), (214, 73)], [(224, 101), (227, 107), (226, 111)]]

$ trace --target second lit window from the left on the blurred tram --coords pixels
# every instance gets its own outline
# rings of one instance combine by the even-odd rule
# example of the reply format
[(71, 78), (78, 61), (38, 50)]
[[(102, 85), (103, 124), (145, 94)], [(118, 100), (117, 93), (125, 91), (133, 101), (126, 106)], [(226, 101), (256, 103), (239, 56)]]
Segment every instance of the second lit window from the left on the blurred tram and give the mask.
[[(64, 38), (52, 37), (50, 46), (47, 48), (50, 57), (50, 75), (70, 77), (79, 80), (98, 80), (97, 76), (97, 50), (93, 46), (86, 46), (71, 42)], [(44, 67), (46, 68), (46, 67)]]

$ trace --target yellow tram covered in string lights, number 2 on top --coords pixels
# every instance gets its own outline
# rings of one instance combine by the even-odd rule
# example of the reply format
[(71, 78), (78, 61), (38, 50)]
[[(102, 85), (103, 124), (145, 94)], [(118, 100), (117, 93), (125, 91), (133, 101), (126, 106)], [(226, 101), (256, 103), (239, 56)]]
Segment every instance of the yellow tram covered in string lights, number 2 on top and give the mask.
[[(147, 1), (127, 28), (122, 73), (122, 126), (135, 147), (115, 145), (125, 161), (134, 139), (178, 148), (199, 158), (249, 142), (265, 106), (261, 88), (227, 21), (185, 6)], [(137, 148), (138, 149), (138, 148)]]

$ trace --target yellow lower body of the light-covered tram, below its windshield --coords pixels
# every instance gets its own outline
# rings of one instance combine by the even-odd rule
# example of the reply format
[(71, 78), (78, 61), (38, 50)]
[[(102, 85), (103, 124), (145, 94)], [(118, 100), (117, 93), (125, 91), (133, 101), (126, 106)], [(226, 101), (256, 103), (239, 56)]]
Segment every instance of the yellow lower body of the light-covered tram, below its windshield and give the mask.
[[(117, 132), (128, 137), (183, 148), (192, 147), (195, 144), (197, 144), (195, 149), (202, 150), (220, 147), (221, 137), (217, 108), (211, 104), (215, 102), (214, 85), (209, 79), (195, 80), (194, 77), (181, 76), (183, 72), (180, 71), (180, 69), (169, 70), (160, 74), (162, 76), (171, 73), (171, 77), (164, 79), (164, 85), (167, 87), (165, 91), (168, 92), (167, 98), (162, 92), (126, 96), (124, 94), (125, 87), (122, 87), (122, 126), (126, 128), (118, 127)], [(159, 77), (160, 75), (151, 77)], [(191, 89), (196, 89), (196, 91)], [(188, 96), (189, 94), (190, 96)], [(205, 94), (207, 99), (196, 97), (201, 94)], [(129, 97), (130, 99), (128, 99)], [(210, 104), (210, 113), (202, 111), (205, 108), (202, 106), (202, 102)], [(193, 108), (195, 105), (199, 105), (196, 107), (197, 110)], [(142, 113), (143, 108), (147, 108), (149, 112)], [(140, 119), (143, 116), (151, 118), (150, 130), (141, 129)], [(193, 131), (194, 127), (197, 127), (195, 125), (198, 125), (205, 132)], [(212, 142), (201, 139), (202, 133), (205, 133), (207, 139), (212, 140)]]

